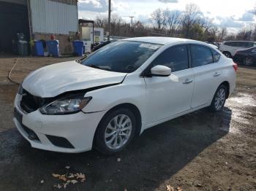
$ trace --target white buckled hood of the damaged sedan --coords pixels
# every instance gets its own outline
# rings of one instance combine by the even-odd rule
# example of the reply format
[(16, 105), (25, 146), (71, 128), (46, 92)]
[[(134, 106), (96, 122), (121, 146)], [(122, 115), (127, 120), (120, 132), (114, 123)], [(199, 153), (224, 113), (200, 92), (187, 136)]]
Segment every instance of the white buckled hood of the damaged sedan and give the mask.
[(75, 61), (56, 63), (31, 72), (22, 87), (41, 98), (55, 97), (72, 90), (120, 83), (126, 73), (83, 66)]

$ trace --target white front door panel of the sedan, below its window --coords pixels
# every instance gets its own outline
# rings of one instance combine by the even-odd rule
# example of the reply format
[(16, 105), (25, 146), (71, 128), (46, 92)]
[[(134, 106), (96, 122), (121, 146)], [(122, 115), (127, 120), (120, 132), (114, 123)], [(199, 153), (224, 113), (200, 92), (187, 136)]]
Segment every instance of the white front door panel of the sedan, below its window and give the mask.
[(194, 88), (192, 69), (169, 77), (148, 77), (146, 81), (146, 123), (151, 124), (190, 109)]

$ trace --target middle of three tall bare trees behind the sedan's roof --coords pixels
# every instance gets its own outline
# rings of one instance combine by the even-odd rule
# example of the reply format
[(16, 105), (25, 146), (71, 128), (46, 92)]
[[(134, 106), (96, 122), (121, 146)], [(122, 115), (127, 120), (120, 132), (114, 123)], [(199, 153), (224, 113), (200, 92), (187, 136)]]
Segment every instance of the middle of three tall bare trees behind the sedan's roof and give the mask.
[(178, 10), (170, 11), (169, 9), (166, 9), (164, 11), (164, 15), (166, 18), (165, 25), (167, 27), (168, 34), (173, 36), (181, 25), (181, 12)]

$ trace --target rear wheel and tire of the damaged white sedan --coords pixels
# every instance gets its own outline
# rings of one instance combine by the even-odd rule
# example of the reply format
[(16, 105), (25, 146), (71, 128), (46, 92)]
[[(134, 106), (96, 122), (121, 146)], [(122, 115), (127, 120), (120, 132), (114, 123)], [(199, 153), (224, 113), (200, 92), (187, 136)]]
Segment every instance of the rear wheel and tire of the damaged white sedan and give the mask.
[(214, 98), (211, 101), (211, 112), (219, 112), (223, 109), (227, 98), (227, 87), (220, 85), (214, 94)]

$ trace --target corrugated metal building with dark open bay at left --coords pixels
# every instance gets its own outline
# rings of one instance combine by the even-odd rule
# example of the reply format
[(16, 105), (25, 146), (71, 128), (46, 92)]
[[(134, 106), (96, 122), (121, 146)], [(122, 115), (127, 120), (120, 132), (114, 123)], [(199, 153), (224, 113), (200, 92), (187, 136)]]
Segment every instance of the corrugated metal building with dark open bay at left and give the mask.
[(78, 31), (77, 0), (0, 0), (0, 51), (11, 52), (17, 33), (26, 40), (59, 40), (61, 54), (73, 52)]

